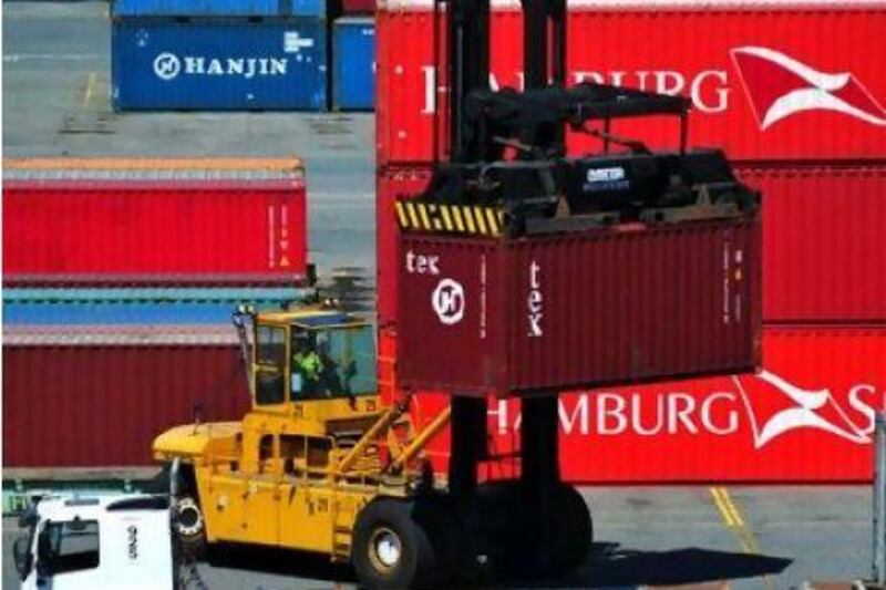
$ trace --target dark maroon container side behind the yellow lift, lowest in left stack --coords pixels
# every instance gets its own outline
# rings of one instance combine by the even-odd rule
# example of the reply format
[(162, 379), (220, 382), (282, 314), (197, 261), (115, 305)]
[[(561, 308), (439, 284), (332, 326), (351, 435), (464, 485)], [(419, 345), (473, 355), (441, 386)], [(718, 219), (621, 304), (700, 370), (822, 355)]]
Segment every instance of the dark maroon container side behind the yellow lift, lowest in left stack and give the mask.
[(7, 467), (152, 465), (151, 443), (193, 422), (239, 420), (235, 345), (3, 346)]

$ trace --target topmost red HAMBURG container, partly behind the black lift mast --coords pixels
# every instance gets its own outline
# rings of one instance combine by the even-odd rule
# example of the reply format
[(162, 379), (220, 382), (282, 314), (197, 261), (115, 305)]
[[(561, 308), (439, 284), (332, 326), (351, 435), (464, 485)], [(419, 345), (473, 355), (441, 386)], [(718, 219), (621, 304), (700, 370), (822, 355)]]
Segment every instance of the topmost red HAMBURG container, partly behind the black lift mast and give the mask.
[[(434, 157), (445, 106), (434, 66), (445, 28), (429, 0), (388, 0), (378, 27), (378, 162)], [(522, 85), (522, 17), (493, 2), (493, 87)], [(437, 24), (435, 27), (434, 24)], [(692, 100), (690, 143), (733, 159), (883, 159), (886, 2), (807, 0), (569, 2), (567, 71)], [(708, 31), (711, 34), (699, 34)], [(435, 50), (435, 43), (437, 48)], [(638, 126), (639, 125), (639, 126)], [(674, 123), (619, 122), (615, 133), (671, 145)], [(641, 131), (641, 133), (639, 133)], [(574, 153), (597, 141), (571, 135)], [(445, 156), (439, 147), (439, 155)]]

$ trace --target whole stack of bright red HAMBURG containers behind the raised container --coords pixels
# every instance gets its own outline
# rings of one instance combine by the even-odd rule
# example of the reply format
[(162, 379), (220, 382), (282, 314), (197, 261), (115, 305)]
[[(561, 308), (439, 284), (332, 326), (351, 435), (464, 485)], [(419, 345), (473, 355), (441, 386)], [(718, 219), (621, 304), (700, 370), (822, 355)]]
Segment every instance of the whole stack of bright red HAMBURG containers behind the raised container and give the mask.
[[(699, 8), (680, 0), (578, 0), (569, 7), (570, 82), (689, 96), (690, 144), (722, 146), (739, 176), (763, 193), (767, 328), (759, 376), (643, 385), (609, 397), (600, 396), (606, 391), (565, 395), (564, 475), (575, 482), (868, 478), (870, 416), (886, 408), (886, 256), (878, 247), (886, 219), (886, 64), (879, 59), (886, 2), (719, 0)], [(446, 156), (446, 101), (437, 81), (445, 65), (434, 66), (434, 55), (445, 55), (445, 29), (426, 0), (380, 6), (377, 27), (379, 320), (383, 338), (399, 334), (403, 346), (409, 337), (396, 324), (392, 205), (419, 194), (433, 158)], [(515, 3), (494, 3), (492, 45), (493, 86), (518, 87)], [(667, 147), (666, 138), (677, 136), (671, 125), (619, 122), (614, 132)], [(597, 146), (571, 135), (569, 148)], [(674, 348), (698, 344), (673, 333), (662, 338)], [(419, 398), (422, 420), (444, 403), (440, 393)], [(516, 437), (512, 406), (511, 426), (496, 438), (505, 449)], [(767, 408), (762, 417), (758, 406)], [(584, 416), (602, 427), (580, 434)], [(652, 427), (656, 416), (660, 428)], [(495, 427), (502, 420), (497, 403), (490, 420)], [(714, 444), (715, 457), (709, 454)]]

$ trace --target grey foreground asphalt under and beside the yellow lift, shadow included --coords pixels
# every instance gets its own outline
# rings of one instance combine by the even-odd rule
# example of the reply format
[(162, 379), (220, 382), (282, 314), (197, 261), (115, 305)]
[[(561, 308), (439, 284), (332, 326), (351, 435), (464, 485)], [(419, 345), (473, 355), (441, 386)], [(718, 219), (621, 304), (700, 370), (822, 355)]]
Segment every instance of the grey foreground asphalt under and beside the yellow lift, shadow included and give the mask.
[[(863, 487), (584, 487), (595, 545), (573, 575), (542, 588), (789, 589), (869, 571), (869, 491)], [(3, 587), (16, 583), (3, 519)], [(350, 568), (322, 557), (243, 549), (200, 565), (209, 588), (351, 588)]]

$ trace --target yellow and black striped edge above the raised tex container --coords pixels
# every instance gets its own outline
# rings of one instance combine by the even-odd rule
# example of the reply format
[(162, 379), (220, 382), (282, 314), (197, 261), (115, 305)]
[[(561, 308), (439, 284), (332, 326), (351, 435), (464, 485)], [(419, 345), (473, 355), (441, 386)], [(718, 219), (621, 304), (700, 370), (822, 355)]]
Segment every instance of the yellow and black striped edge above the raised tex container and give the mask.
[(504, 234), (504, 211), (482, 205), (396, 201), (396, 221), (404, 231), (465, 234), (498, 237)]

